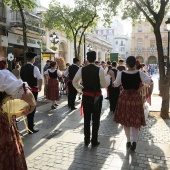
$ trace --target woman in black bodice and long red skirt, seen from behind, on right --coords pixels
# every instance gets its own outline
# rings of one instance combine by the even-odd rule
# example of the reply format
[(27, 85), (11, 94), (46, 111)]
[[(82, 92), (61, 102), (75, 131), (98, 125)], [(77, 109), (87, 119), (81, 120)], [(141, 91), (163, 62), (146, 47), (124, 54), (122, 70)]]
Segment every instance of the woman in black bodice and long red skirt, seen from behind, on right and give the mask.
[[(127, 71), (119, 72), (114, 87), (123, 86), (120, 93), (118, 105), (115, 110), (114, 121), (124, 126), (127, 137), (127, 148), (132, 151), (136, 149), (139, 128), (145, 126), (145, 116), (142, 97), (140, 95), (141, 82), (150, 86), (149, 93), (152, 94), (153, 81), (142, 71), (136, 70), (136, 59), (129, 56), (126, 60)], [(132, 127), (133, 143), (130, 139), (130, 127)]]

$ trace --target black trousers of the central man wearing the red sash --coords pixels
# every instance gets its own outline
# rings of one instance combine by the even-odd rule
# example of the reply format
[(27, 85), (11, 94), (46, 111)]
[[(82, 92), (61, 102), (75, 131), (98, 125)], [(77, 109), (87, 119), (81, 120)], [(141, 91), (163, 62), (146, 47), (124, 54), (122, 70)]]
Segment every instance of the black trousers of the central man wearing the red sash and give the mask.
[(90, 121), (92, 119), (92, 138), (91, 142), (98, 140), (100, 126), (100, 114), (102, 109), (103, 96), (90, 97), (83, 95), (82, 104), (84, 112), (84, 142), (90, 142)]

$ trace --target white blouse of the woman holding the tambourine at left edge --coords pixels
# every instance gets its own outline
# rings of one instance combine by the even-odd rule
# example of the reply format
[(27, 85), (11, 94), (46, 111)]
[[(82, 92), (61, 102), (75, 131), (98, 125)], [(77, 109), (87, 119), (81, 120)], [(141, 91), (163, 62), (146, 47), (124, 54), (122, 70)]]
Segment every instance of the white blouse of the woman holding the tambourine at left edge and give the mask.
[[(23, 81), (17, 79), (9, 70), (0, 70), (0, 91), (6, 92), (12, 98), (21, 98), (24, 90)], [(26, 83), (26, 86), (27, 83)]]

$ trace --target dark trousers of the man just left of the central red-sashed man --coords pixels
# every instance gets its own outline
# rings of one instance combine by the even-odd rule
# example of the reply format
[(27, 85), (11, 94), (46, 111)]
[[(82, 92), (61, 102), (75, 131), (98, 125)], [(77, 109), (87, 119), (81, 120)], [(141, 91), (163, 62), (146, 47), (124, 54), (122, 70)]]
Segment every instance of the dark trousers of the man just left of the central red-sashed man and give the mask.
[(74, 88), (72, 82), (68, 82), (67, 86), (68, 86), (68, 106), (72, 109), (75, 107), (77, 90)]

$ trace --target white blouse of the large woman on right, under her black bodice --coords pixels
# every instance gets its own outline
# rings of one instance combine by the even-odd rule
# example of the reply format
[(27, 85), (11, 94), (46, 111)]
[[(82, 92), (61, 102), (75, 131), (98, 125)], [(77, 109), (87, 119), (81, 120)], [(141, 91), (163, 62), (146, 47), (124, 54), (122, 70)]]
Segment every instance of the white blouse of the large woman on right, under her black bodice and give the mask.
[[(153, 82), (152, 82), (152, 79), (147, 75), (145, 74), (144, 72), (140, 71), (140, 70), (132, 70), (132, 71), (124, 71), (125, 73), (127, 74), (135, 74), (139, 71), (139, 75), (140, 75), (140, 78), (141, 78), (141, 81), (145, 84), (148, 84), (148, 85), (151, 85)], [(118, 87), (122, 84), (121, 82), (121, 77), (122, 77), (122, 71), (119, 71), (118, 72), (118, 75), (116, 77), (116, 80), (113, 82), (114, 86), (115, 87)]]

